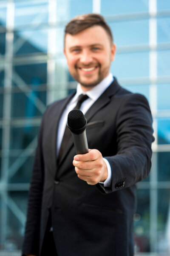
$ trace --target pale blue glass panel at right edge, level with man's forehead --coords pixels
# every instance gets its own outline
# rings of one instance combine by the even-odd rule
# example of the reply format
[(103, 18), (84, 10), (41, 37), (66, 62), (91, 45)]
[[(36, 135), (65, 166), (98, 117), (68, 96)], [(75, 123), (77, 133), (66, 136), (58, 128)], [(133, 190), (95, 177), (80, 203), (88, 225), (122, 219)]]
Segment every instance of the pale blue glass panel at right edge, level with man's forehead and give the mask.
[(158, 43), (170, 41), (170, 17), (157, 19)]

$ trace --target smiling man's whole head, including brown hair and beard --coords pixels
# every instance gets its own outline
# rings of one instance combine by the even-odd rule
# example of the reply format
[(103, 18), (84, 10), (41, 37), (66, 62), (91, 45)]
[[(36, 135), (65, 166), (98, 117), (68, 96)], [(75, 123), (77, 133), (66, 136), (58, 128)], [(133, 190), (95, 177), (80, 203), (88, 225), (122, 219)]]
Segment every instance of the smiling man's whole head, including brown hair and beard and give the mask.
[(83, 90), (108, 76), (115, 52), (111, 29), (101, 15), (79, 15), (65, 27), (68, 69)]

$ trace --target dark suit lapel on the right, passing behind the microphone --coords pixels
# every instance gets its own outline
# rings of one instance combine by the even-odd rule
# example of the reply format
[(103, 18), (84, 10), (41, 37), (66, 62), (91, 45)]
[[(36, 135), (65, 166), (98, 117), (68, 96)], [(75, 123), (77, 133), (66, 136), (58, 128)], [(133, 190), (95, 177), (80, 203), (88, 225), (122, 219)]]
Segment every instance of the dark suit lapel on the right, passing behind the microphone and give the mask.
[[(85, 113), (85, 117), (87, 119), (87, 122), (90, 122), (90, 120), (93, 118), (93, 116), (95, 116), (95, 114), (97, 112), (99, 112), (100, 109), (102, 109), (106, 105), (108, 105), (108, 103), (111, 100), (111, 97), (113, 95), (115, 95), (115, 93), (119, 90), (119, 88), (120, 88), (120, 85), (117, 83), (116, 78), (114, 78), (114, 81), (111, 83), (111, 85), (104, 91), (104, 93), (102, 93), (102, 95), (99, 97), (99, 99), (97, 99), (96, 102), (94, 102), (94, 104), (91, 106), (91, 108), (89, 108), (87, 113)], [(73, 143), (73, 139), (71, 137), (71, 139), (68, 142), (65, 153), (63, 154), (63, 156), (62, 156), (62, 158), (59, 162), (59, 166), (63, 163), (67, 154), (69, 153), (69, 151), (73, 147), (73, 145), (74, 145), (74, 143)]]

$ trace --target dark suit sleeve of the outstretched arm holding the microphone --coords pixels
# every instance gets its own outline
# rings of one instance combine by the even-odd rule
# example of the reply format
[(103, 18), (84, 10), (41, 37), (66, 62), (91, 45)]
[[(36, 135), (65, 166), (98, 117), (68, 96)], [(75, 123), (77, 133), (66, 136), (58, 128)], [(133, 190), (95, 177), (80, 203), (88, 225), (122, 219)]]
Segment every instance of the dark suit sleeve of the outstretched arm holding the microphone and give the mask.
[(97, 184), (109, 193), (134, 185), (149, 175), (153, 138), (152, 116), (147, 99), (129, 94), (116, 116), (117, 154), (105, 157), (111, 166), (110, 187)]

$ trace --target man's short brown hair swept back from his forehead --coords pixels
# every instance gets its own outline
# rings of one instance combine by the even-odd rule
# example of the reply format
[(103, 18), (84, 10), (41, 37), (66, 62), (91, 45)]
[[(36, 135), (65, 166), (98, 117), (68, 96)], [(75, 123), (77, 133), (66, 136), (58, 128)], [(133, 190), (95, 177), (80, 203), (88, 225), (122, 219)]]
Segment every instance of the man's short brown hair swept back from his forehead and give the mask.
[(74, 17), (65, 27), (65, 36), (67, 33), (70, 35), (76, 35), (79, 32), (92, 26), (102, 26), (111, 39), (111, 43), (113, 43), (113, 35), (111, 29), (106, 23), (104, 17), (94, 13), (83, 14)]

